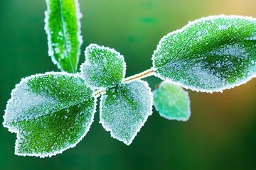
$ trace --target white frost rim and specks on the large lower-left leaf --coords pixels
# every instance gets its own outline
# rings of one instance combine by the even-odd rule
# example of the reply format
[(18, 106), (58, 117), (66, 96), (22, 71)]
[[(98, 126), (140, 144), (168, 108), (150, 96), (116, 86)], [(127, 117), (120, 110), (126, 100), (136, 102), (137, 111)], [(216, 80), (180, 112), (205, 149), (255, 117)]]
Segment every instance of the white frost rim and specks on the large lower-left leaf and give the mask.
[[(65, 151), (66, 149), (69, 149), (69, 148), (72, 148), (72, 147), (75, 147), (75, 145), (78, 144), (78, 142), (80, 142), (80, 140), (82, 140), (83, 137), (85, 137), (85, 135), (87, 134), (87, 132), (90, 130), (90, 125), (92, 125), (92, 122), (93, 122), (93, 118), (94, 118), (94, 115), (95, 115), (95, 112), (96, 112), (96, 105), (97, 105), (97, 98), (94, 97), (94, 107), (93, 107), (93, 112), (92, 112), (92, 116), (91, 116), (91, 120), (90, 120), (90, 123), (87, 124), (87, 128), (85, 129), (85, 132), (82, 134), (82, 136), (76, 140), (76, 142), (73, 144), (73, 145), (70, 145), (70, 144), (66, 144), (65, 145), (65, 148), (63, 149), (60, 149), (58, 151), (55, 151), (55, 152), (50, 152), (50, 153), (46, 153), (46, 154), (34, 154), (34, 153), (27, 153), (27, 154), (24, 154), (24, 153), (20, 153), (18, 152), (18, 148), (19, 147), (22, 147), (21, 145), (19, 145), (20, 143), (20, 140), (22, 140), (24, 137), (21, 135), (21, 132), (19, 132), (18, 128), (13, 128), (9, 125), (7, 125), (7, 121), (8, 120), (14, 120), (16, 118), (15, 115), (13, 115), (12, 113), (10, 113), (9, 111), (9, 105), (10, 103), (13, 103), (14, 102), (14, 96), (13, 94), (16, 93), (16, 91), (18, 91), (18, 88), (22, 87), (23, 84), (26, 84), (28, 82), (29, 79), (33, 79), (35, 77), (40, 77), (40, 76), (46, 76), (46, 75), (65, 75), (67, 77), (75, 77), (75, 78), (80, 78), (82, 79), (82, 77), (80, 77), (79, 74), (68, 74), (66, 72), (47, 72), (45, 74), (36, 74), (36, 75), (33, 75), (31, 77), (26, 77), (26, 78), (23, 78), (21, 79), (21, 82), (19, 84), (16, 84), (16, 88), (11, 92), (11, 99), (9, 99), (9, 101), (7, 102), (7, 106), (6, 106), (6, 110), (5, 110), (5, 114), (3, 116), (4, 118), (4, 122), (3, 122), (3, 125), (5, 128), (8, 128), (8, 130), (10, 132), (15, 132), (17, 134), (17, 138), (16, 138), (16, 145), (15, 145), (15, 154), (16, 155), (19, 155), (19, 156), (35, 156), (35, 157), (52, 157), (54, 156), (55, 154), (60, 154), (62, 153), (63, 151)], [(23, 87), (26, 87), (26, 86), (23, 86)], [(22, 96), (21, 96), (22, 97)], [(42, 98), (41, 98), (42, 99)], [(38, 101), (40, 102), (41, 99)], [(28, 101), (26, 101), (26, 104), (29, 104), (29, 102), (27, 103)], [(18, 108), (17, 108), (18, 109)], [(44, 114), (42, 114), (44, 115)], [(42, 116), (42, 115), (39, 115), (39, 116)], [(9, 118), (10, 117), (10, 118)], [(30, 117), (28, 118), (32, 118), (33, 115), (31, 115)]]

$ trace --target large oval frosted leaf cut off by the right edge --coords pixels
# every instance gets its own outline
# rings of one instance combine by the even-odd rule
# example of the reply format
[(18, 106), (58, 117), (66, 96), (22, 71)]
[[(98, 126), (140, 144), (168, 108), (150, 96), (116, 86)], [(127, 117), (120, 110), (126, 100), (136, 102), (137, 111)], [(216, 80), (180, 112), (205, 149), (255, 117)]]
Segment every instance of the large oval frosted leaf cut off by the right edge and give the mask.
[(210, 16), (164, 36), (153, 55), (156, 76), (196, 91), (223, 91), (256, 74), (256, 19)]

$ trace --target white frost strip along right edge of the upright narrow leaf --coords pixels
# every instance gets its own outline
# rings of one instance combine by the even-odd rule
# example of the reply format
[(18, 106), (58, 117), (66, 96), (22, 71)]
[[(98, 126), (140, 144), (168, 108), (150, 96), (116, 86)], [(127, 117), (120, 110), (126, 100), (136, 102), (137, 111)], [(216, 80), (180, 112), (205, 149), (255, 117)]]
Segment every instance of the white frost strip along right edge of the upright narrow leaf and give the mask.
[(80, 18), (82, 18), (82, 13), (80, 12), (80, 5), (78, 0), (75, 1), (75, 16), (77, 18), (77, 24), (78, 24), (78, 55), (77, 55), (77, 63), (79, 62), (80, 54), (81, 54), (81, 46), (82, 46), (82, 35), (81, 35), (81, 22)]

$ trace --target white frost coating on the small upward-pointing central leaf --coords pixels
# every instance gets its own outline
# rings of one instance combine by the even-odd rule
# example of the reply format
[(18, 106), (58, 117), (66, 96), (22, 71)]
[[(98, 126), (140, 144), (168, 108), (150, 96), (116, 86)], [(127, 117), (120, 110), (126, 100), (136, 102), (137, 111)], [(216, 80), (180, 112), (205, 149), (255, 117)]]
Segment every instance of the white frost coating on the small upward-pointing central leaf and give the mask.
[[(106, 50), (107, 52), (117, 55), (116, 58), (119, 58), (122, 60), (122, 80), (124, 79), (126, 74), (126, 68), (127, 68), (126, 63), (124, 62), (124, 56), (122, 56), (119, 52), (117, 52), (116, 50), (110, 47), (104, 47), (97, 44), (90, 44), (85, 49), (85, 62), (80, 65), (81, 75), (88, 86), (90, 86), (92, 89), (99, 89), (100, 87), (109, 86), (108, 80), (110, 79), (110, 77), (112, 76), (114, 77), (115, 76), (114, 74), (117, 74), (117, 72), (120, 72), (120, 70), (115, 70), (115, 66), (120, 64), (118, 61), (114, 63), (115, 65), (110, 64), (109, 61), (107, 61), (107, 59), (105, 58), (105, 54), (102, 52), (102, 54), (99, 57), (102, 57), (103, 64), (98, 63), (92, 60), (90, 50), (95, 50), (95, 51)], [(100, 68), (100, 67), (103, 67), (103, 68)], [(106, 67), (108, 67), (107, 72), (105, 72), (104, 70)], [(111, 74), (112, 72), (114, 72), (113, 75)]]

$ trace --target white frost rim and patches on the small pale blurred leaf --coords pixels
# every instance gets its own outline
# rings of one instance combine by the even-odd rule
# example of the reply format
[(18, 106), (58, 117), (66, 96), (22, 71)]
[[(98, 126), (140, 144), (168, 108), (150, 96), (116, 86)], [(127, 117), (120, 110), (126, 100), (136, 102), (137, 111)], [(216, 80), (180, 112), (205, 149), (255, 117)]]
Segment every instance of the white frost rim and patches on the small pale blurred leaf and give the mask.
[[(161, 87), (161, 86), (165, 86), (165, 85), (169, 85), (169, 84), (174, 84), (172, 81), (169, 81), (169, 80), (165, 80), (165, 81), (162, 81), (161, 82), (161, 84), (159, 84), (159, 88)], [(176, 86), (176, 85), (174, 85), (174, 86)], [(190, 118), (190, 116), (191, 116), (191, 101), (190, 101), (190, 98), (189, 98), (189, 96), (188, 96), (188, 91), (185, 91), (185, 90), (183, 90), (182, 88), (181, 88), (181, 86), (177, 86), (177, 88), (179, 88), (179, 91), (180, 91), (180, 93), (181, 94), (184, 94), (185, 96), (186, 96), (186, 99), (187, 99), (187, 113), (186, 113), (186, 118), (185, 117), (183, 117), (183, 118), (178, 118), (177, 116), (174, 116), (174, 115), (172, 115), (172, 116), (170, 116), (170, 115), (166, 115), (166, 114), (164, 114), (164, 113), (161, 113), (161, 111), (160, 111), (160, 108), (158, 108), (157, 107), (157, 104), (156, 104), (156, 101), (154, 101), (154, 106), (155, 106), (155, 108), (156, 108), (156, 111), (159, 111), (159, 114), (161, 115), (161, 117), (163, 117), (163, 118), (166, 118), (166, 119), (168, 119), (168, 120), (178, 120), (178, 121), (187, 121), (189, 118)], [(155, 95), (156, 94), (156, 91), (157, 91), (158, 89), (156, 89), (155, 91), (153, 91), (153, 94)], [(162, 91), (162, 92), (164, 92), (164, 91)], [(177, 91), (178, 92), (178, 91)], [(166, 94), (162, 94), (162, 95), (166, 95)], [(174, 103), (174, 101), (171, 101), (171, 100), (173, 100), (173, 99), (176, 99), (176, 100), (178, 100), (178, 98), (174, 98), (174, 97), (177, 97), (177, 96), (167, 96), (167, 97), (169, 97), (169, 101), (164, 101), (164, 103), (165, 104), (167, 104), (167, 103), (169, 103), (169, 106), (175, 106), (176, 105), (176, 103)], [(155, 97), (154, 97), (155, 98)], [(160, 102), (160, 101), (158, 101), (158, 102)]]

